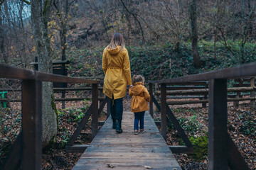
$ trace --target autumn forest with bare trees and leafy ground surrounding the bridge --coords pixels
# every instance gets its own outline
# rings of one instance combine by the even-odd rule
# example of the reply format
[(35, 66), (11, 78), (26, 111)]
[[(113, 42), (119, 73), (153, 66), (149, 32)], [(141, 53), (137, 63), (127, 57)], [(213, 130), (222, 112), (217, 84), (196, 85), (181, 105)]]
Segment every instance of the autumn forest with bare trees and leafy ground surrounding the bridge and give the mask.
[[(34, 69), (37, 63), (39, 72), (53, 73), (54, 62), (65, 62), (69, 77), (103, 79), (102, 52), (114, 33), (124, 36), (132, 75), (141, 74), (146, 81), (238, 67), (256, 62), (256, 1), (0, 0), (0, 64)], [(234, 83), (228, 81), (228, 87)], [(1, 91), (20, 84), (0, 79)], [(60, 97), (53, 94), (53, 84), (44, 83), (43, 89), (42, 169), (72, 169), (81, 154), (67, 153), (65, 145), (90, 101), (66, 102), (61, 108), (53, 101)], [(81, 96), (78, 91), (69, 95)], [(21, 103), (10, 103), (0, 106), (0, 164), (21, 130)], [(248, 103), (228, 107), (233, 140), (240, 145), (243, 139), (242, 157), (256, 169), (255, 108)], [(206, 149), (193, 156), (177, 154), (178, 163), (182, 169), (207, 169), (208, 111), (198, 106), (172, 109), (193, 145)], [(168, 132), (167, 144), (182, 143), (172, 127)], [(80, 143), (90, 143), (90, 133), (88, 125)]]

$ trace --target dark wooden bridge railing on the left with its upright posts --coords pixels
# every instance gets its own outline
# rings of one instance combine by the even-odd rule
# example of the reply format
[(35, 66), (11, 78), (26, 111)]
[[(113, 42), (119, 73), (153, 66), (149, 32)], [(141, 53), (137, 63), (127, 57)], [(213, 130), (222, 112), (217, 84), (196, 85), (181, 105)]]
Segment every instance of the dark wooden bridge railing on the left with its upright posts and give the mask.
[[(19, 69), (0, 64), (0, 77), (6, 79), (21, 79), (22, 98), (21, 132), (14, 142), (11, 151), (0, 169), (41, 169), (42, 157), (42, 82), (61, 82), (71, 84), (91, 84), (92, 104), (92, 137), (98, 130), (98, 84), (92, 79), (78, 79), (57, 74), (36, 72), (30, 69)], [(105, 101), (107, 102), (107, 101)], [(100, 108), (102, 109), (102, 108)]]

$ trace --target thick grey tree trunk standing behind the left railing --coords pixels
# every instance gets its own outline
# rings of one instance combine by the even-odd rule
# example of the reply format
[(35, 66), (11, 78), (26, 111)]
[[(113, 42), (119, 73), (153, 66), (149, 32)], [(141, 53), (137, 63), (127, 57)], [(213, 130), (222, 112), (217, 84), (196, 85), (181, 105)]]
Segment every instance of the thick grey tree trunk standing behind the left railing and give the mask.
[[(36, 40), (36, 50), (38, 55), (38, 71), (52, 72), (52, 51), (48, 36), (48, 16), (52, 0), (44, 1), (31, 0), (31, 20), (34, 37)], [(42, 128), (43, 128), (43, 146), (57, 134), (57, 119), (53, 110), (53, 84), (43, 82), (43, 103), (42, 103)]]

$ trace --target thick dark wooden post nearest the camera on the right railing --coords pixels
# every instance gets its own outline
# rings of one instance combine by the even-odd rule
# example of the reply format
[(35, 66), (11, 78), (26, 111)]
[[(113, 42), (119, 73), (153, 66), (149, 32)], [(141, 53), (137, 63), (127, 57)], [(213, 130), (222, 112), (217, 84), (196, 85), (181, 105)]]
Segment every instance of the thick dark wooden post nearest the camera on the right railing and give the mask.
[(228, 169), (227, 81), (211, 79), (209, 86), (208, 169)]

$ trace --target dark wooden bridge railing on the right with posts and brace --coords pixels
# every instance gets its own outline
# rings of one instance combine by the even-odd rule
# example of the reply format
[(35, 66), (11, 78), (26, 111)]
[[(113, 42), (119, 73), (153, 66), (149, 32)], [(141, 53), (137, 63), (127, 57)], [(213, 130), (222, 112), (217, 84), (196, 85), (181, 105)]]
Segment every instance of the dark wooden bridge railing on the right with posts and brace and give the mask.
[[(185, 145), (192, 147), (191, 142), (186, 137), (181, 125), (176, 120), (174, 114), (166, 101), (166, 86), (169, 84), (186, 83), (191, 81), (209, 81), (208, 89), (208, 169), (249, 169), (245, 160), (242, 158), (238, 148), (228, 134), (228, 88), (227, 79), (240, 79), (256, 76), (256, 64), (245, 64), (240, 67), (219, 69), (203, 74), (194, 74), (175, 79), (165, 79), (161, 81), (149, 81), (149, 94), (152, 96), (150, 114), (153, 115), (153, 103), (161, 111), (161, 135), (166, 139), (167, 116), (171, 119), (174, 127), (181, 135)], [(161, 105), (153, 96), (153, 84), (161, 84)], [(253, 86), (254, 84), (252, 84)], [(255, 89), (255, 86), (253, 86)], [(255, 101), (255, 92), (252, 93), (250, 100)]]

